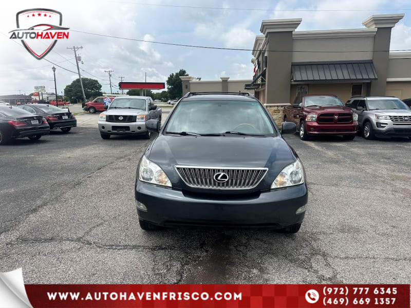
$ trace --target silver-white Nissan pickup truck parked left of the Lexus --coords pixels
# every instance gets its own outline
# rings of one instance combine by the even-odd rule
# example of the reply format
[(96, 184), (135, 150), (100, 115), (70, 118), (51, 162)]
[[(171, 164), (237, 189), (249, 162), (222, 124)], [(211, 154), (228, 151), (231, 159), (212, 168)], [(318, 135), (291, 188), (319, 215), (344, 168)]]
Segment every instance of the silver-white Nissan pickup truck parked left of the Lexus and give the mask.
[(100, 113), (101, 138), (109, 139), (111, 135), (141, 134), (144, 138), (150, 139), (151, 132), (145, 126), (148, 120), (159, 120), (158, 130), (160, 130), (161, 108), (154, 105), (151, 97), (117, 97), (106, 111)]

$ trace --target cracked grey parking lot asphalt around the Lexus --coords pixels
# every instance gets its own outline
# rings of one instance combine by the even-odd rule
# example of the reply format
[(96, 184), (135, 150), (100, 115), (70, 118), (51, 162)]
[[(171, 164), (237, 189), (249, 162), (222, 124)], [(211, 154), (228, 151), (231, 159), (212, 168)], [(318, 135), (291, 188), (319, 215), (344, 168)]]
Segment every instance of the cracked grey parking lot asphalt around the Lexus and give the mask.
[(25, 283), (410, 281), (411, 140), (285, 136), (309, 187), (297, 234), (147, 233), (133, 191), (150, 141), (102, 140), (98, 114), (77, 118), (68, 134), (0, 147), (0, 272), (23, 267)]

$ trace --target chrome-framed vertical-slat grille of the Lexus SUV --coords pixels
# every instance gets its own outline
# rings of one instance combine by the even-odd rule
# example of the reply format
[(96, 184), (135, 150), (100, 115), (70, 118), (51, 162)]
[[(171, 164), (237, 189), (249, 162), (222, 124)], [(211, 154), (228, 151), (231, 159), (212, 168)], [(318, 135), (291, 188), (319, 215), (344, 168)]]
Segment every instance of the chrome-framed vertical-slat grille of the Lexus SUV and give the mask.
[[(250, 189), (264, 178), (268, 168), (219, 168), (175, 166), (178, 175), (190, 187), (211, 189)], [(226, 182), (216, 181), (216, 174), (226, 174)]]

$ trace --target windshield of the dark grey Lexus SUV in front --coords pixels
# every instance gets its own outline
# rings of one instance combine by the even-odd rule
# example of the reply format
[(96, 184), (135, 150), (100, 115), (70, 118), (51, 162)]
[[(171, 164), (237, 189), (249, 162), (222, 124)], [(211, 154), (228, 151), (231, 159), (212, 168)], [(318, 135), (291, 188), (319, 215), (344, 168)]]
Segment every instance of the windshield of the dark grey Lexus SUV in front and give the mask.
[(250, 101), (181, 101), (165, 132), (214, 134), (241, 132), (273, 134), (267, 113), (258, 102)]

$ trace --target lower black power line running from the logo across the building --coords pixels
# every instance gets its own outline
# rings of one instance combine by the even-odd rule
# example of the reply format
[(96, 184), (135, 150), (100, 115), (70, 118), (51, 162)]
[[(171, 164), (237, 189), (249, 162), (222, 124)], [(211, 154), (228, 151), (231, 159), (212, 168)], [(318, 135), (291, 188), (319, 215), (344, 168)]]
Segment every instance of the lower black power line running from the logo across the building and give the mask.
[(162, 45), (172, 45), (172, 46), (181, 46), (181, 47), (192, 47), (192, 48), (206, 48), (206, 49), (219, 49), (219, 50), (239, 50), (239, 51), (270, 51), (270, 52), (310, 52), (310, 53), (347, 53), (347, 52), (388, 52), (388, 51), (411, 51), (411, 49), (396, 49), (396, 50), (351, 50), (351, 51), (326, 51), (326, 50), (265, 50), (265, 49), (247, 49), (247, 48), (228, 48), (228, 47), (212, 47), (212, 46), (201, 46), (201, 45), (186, 45), (186, 44), (178, 44), (178, 43), (166, 43), (166, 42), (156, 42), (156, 41), (147, 41), (147, 40), (139, 40), (138, 38), (130, 38), (130, 37), (122, 37), (122, 36), (115, 36), (115, 35), (108, 35), (108, 34), (99, 34), (99, 33), (92, 33), (86, 31), (78, 31), (71, 29), (70, 31), (91, 34), (91, 35), (98, 35), (98, 36), (105, 36), (111, 38), (119, 38), (120, 40), (128, 40), (128, 41), (136, 41), (136, 42), (145, 42), (145, 43), (153, 43), (153, 44), (162, 44)]

